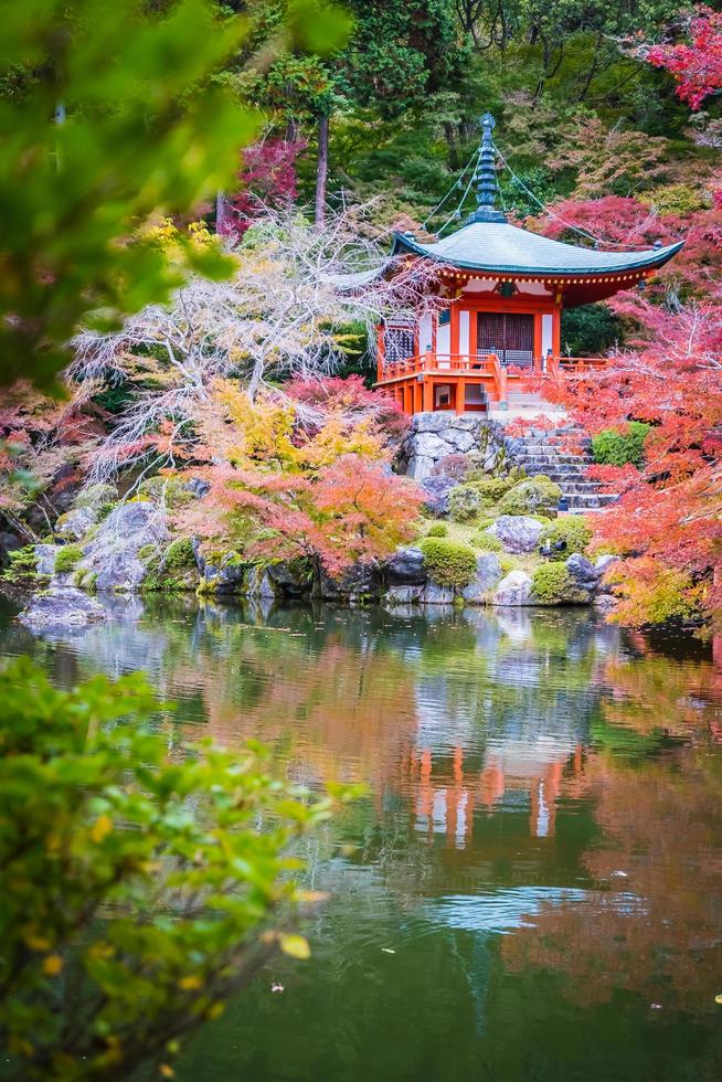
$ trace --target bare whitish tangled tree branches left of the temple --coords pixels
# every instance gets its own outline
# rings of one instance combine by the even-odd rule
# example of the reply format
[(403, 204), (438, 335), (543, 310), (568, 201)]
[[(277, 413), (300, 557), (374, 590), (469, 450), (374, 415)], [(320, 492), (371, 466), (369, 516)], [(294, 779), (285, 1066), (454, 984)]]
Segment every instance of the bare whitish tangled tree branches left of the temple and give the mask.
[(202, 412), (217, 378), (240, 379), (253, 399), (272, 381), (331, 373), (349, 323), (371, 329), (387, 311), (418, 304), (429, 272), (384, 257), (363, 236), (362, 216), (355, 208), (319, 230), (268, 215), (234, 252), (230, 280), (192, 278), (170, 305), (144, 309), (118, 332), (79, 335), (67, 373), (76, 403), (100, 383), (134, 388), (88, 464), (88, 484), (146, 457), (161, 426), (172, 431), (155, 465), (172, 465), (173, 435)]

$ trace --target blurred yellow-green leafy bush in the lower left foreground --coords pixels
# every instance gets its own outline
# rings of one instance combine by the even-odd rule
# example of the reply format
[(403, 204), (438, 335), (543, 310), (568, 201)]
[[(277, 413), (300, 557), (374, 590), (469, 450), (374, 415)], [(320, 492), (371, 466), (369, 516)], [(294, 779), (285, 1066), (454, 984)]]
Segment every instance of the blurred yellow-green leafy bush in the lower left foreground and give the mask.
[[(145, 679), (0, 672), (0, 1040), (22, 1079), (161, 1074), (276, 951), (308, 956), (294, 841), (326, 819), (261, 747), (169, 751)], [(171, 731), (172, 732), (172, 731)]]

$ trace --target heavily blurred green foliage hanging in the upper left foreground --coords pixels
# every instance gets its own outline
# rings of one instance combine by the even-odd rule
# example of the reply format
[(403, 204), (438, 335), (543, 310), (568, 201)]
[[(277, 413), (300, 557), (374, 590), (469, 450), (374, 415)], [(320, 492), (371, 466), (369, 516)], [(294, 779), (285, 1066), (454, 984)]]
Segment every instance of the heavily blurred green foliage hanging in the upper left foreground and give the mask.
[[(242, 18), (211, 0), (0, 0), (0, 385), (52, 386), (83, 322), (108, 326), (164, 300), (219, 250), (170, 265), (142, 226), (198, 211), (238, 169), (257, 129), (219, 75)], [(349, 23), (295, 0), (273, 49), (331, 50)]]

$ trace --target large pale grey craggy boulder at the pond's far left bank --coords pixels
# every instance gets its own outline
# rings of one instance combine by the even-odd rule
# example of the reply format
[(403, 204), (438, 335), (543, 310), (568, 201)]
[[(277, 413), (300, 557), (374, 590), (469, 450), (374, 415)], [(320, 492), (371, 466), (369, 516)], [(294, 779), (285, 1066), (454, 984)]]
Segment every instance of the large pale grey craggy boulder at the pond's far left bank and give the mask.
[(168, 541), (166, 519), (157, 503), (130, 500), (119, 503), (88, 543), (77, 570), (96, 590), (132, 593), (146, 576), (140, 550)]

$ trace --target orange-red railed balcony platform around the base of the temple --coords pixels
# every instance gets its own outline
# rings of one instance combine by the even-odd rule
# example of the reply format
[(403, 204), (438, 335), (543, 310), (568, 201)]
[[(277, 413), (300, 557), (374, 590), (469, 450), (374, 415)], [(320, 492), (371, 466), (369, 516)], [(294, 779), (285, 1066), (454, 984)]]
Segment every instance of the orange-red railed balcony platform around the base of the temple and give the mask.
[(512, 411), (556, 413), (539, 391), (528, 390), (530, 375), (561, 380), (604, 365), (595, 357), (533, 357), (497, 353), (437, 353), (428, 351), (379, 364), (376, 386), (392, 395), (407, 414), (447, 411), (484, 413)]

